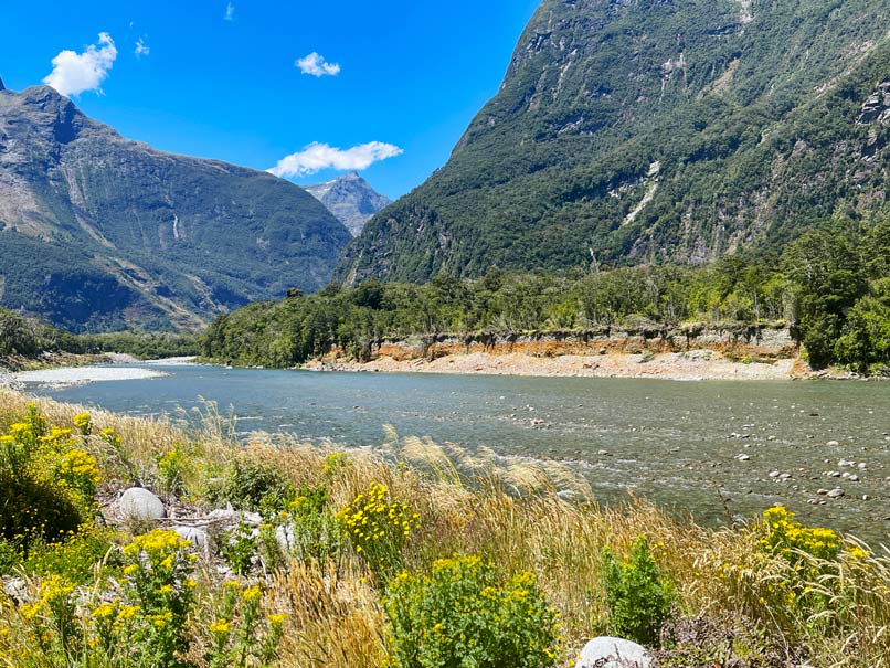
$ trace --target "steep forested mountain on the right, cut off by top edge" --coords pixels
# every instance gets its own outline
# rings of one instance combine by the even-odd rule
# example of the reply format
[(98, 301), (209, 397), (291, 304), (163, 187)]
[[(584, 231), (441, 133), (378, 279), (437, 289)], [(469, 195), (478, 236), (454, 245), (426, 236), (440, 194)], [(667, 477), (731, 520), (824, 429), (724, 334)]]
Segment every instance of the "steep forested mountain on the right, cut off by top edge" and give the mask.
[(888, 0), (544, 0), (347, 284), (682, 262), (888, 208)]

